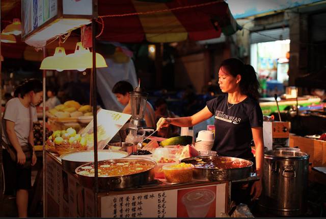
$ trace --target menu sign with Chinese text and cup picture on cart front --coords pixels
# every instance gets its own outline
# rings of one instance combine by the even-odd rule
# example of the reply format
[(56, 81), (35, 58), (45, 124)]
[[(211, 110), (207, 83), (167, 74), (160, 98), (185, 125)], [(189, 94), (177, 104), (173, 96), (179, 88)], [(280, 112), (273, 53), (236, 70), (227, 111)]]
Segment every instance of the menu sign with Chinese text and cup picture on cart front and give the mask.
[(226, 183), (101, 197), (102, 217), (220, 217)]

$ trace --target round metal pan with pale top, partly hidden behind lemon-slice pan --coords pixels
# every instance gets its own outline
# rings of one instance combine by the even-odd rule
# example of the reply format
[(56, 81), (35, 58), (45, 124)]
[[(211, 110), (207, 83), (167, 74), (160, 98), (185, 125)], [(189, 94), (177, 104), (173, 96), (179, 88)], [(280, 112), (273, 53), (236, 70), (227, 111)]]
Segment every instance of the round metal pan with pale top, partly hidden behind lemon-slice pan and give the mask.
[[(98, 161), (109, 159), (119, 159), (128, 157), (128, 153), (120, 150), (98, 150)], [(94, 151), (83, 150), (71, 153), (65, 153), (60, 156), (62, 168), (70, 173), (75, 173), (75, 169), (80, 165), (94, 162)]]

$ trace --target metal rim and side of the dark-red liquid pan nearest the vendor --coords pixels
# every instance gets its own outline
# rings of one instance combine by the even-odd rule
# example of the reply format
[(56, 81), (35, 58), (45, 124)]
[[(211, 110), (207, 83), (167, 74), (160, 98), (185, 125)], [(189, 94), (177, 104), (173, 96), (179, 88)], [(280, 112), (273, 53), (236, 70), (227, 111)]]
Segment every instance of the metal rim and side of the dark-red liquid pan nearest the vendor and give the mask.
[[(202, 160), (203, 162), (227, 162), (232, 161), (236, 163), (241, 163), (241, 167), (239, 168), (202, 168), (196, 166), (198, 160)], [(231, 157), (212, 157), (212, 156), (199, 156), (195, 158), (186, 158), (181, 162), (194, 164), (195, 168), (193, 170), (194, 178), (200, 180), (209, 180), (209, 181), (232, 181), (245, 179), (250, 177), (251, 167), (253, 166), (253, 162), (247, 161), (239, 158), (231, 158)], [(201, 161), (200, 161), (201, 162)]]

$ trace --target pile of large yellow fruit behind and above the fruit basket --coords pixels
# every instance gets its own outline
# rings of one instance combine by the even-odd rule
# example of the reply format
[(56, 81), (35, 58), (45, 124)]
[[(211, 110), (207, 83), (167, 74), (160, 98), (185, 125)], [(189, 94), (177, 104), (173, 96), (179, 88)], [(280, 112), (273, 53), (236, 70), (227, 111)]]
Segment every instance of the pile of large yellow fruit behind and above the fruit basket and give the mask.
[(66, 101), (49, 111), (50, 116), (57, 118), (77, 118), (79, 116), (89, 116), (92, 114), (92, 107), (90, 105), (81, 106), (76, 101)]

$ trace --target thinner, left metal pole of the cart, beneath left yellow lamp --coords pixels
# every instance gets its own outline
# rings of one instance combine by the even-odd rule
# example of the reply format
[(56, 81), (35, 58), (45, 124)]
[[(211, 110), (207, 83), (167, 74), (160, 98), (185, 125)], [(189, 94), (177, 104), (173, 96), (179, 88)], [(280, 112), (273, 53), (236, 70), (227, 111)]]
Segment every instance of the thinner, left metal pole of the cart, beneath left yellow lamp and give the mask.
[[(43, 47), (43, 59), (46, 57), (46, 49)], [(46, 162), (45, 162), (45, 77), (46, 77), (46, 70), (43, 70), (43, 172), (42, 172), (42, 179), (43, 179), (43, 217), (46, 217)]]

